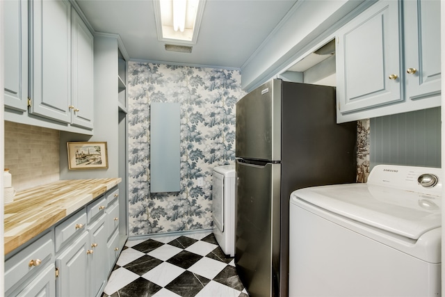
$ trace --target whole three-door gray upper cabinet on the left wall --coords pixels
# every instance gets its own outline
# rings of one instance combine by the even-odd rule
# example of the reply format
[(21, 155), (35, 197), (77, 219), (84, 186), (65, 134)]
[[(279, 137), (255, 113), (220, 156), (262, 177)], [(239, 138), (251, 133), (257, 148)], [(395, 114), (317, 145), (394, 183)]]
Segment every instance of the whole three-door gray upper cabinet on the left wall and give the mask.
[(70, 1), (6, 2), (5, 120), (92, 134), (92, 33)]

